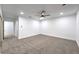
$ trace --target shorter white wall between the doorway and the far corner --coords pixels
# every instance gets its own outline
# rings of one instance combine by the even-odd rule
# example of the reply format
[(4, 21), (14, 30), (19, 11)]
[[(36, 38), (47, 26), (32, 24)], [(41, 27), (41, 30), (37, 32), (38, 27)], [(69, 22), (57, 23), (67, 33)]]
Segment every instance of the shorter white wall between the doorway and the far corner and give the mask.
[(39, 34), (39, 21), (19, 17), (19, 39)]

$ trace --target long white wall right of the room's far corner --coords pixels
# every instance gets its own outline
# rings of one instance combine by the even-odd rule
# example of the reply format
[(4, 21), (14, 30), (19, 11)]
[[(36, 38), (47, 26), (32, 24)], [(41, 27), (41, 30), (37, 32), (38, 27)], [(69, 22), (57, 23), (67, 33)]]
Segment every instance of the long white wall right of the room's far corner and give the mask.
[(76, 40), (76, 15), (44, 20), (41, 23), (41, 34)]

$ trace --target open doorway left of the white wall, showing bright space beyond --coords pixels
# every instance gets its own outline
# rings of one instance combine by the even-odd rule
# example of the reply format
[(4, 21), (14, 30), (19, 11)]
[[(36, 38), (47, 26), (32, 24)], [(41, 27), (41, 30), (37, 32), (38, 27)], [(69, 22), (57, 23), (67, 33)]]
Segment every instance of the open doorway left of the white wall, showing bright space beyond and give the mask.
[(6, 17), (4, 18), (4, 40), (12, 40), (12, 39), (17, 39), (18, 33), (16, 28), (16, 19), (15, 18), (10, 18)]

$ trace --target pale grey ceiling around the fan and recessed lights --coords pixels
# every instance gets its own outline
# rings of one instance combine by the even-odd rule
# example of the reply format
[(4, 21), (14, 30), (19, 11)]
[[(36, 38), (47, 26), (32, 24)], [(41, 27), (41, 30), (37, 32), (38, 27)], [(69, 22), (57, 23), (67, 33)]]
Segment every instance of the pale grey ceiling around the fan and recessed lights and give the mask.
[[(78, 4), (67, 4), (62, 6), (61, 4), (3, 4), (2, 11), (4, 17), (13, 17), (24, 16), (30, 18), (39, 19), (40, 11), (46, 10), (47, 14), (50, 14), (50, 18), (59, 17), (60, 12), (63, 12), (65, 15), (74, 14), (78, 11)], [(20, 12), (23, 11), (24, 14), (20, 15)]]

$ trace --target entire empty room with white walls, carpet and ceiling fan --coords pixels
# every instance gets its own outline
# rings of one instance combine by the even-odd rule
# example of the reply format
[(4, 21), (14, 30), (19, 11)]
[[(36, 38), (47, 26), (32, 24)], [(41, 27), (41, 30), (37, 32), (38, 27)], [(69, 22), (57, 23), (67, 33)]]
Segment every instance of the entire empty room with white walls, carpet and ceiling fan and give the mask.
[(2, 54), (79, 53), (78, 4), (2, 4), (0, 9)]

